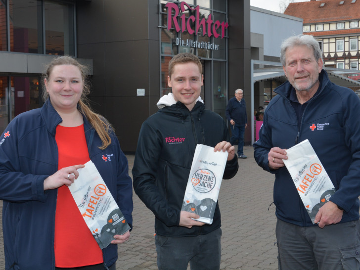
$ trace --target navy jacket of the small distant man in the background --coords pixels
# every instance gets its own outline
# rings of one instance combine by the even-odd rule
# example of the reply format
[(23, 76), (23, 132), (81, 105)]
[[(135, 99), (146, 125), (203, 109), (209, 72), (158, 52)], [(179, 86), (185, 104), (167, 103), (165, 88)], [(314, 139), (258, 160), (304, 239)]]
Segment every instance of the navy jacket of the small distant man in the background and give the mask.
[(239, 102), (236, 97), (231, 98), (227, 103), (225, 115), (228, 121), (235, 121), (235, 126), (244, 127), (247, 124), (245, 99), (242, 98)]

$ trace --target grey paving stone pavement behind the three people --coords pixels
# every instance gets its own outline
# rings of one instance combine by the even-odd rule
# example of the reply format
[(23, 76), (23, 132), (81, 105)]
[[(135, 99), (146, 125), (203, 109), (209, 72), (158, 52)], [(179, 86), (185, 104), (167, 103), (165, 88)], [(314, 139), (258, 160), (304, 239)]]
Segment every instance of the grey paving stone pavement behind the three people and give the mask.
[[(219, 205), (222, 214), (222, 270), (276, 270), (274, 176), (255, 162), (253, 147), (245, 146), (247, 159), (239, 159), (239, 171), (223, 180)], [(129, 175), (134, 156), (127, 155)], [(134, 193), (134, 228), (130, 240), (118, 246), (117, 270), (157, 269), (154, 216)], [(269, 209), (269, 210), (268, 210)], [(2, 201), (0, 201), (2, 212)], [(0, 217), (1, 217), (0, 213)], [(2, 231), (2, 225), (1, 231)], [(0, 269), (4, 269), (3, 237), (0, 234)], [(189, 269), (189, 268), (188, 268)]]

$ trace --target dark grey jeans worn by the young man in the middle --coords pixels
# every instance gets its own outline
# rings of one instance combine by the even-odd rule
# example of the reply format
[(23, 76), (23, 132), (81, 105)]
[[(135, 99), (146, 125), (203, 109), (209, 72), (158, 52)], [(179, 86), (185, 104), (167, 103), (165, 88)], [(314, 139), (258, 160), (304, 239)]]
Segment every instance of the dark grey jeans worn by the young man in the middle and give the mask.
[(155, 235), (159, 270), (219, 270), (221, 235), (218, 228), (208, 234), (186, 237)]

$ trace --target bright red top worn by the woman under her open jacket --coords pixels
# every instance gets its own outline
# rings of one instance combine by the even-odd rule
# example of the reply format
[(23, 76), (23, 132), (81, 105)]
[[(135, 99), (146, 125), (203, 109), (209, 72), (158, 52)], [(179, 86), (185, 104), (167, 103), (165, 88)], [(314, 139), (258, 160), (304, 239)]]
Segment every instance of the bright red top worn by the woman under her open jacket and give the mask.
[[(57, 126), (55, 140), (59, 153), (58, 170), (90, 160), (84, 125)], [(75, 268), (103, 262), (102, 251), (66, 185), (57, 189), (54, 249), (56, 267)]]

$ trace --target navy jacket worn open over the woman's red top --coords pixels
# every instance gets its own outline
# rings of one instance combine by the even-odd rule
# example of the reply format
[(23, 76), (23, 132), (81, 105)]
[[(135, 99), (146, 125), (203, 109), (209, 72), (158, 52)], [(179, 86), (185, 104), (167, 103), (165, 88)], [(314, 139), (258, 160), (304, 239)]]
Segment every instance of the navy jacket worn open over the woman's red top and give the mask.
[[(58, 170), (55, 129), (60, 122), (61, 117), (47, 100), (42, 108), (15, 117), (1, 135), (0, 199), (6, 270), (55, 268), (57, 189), (44, 191), (44, 180)], [(132, 224), (132, 180), (117, 137), (111, 134), (111, 145), (101, 150), (101, 140), (85, 117), (84, 130), (90, 159)], [(102, 159), (111, 154), (111, 161)], [(117, 245), (110, 244), (102, 252), (106, 266), (116, 262)]]

